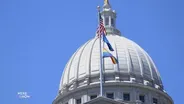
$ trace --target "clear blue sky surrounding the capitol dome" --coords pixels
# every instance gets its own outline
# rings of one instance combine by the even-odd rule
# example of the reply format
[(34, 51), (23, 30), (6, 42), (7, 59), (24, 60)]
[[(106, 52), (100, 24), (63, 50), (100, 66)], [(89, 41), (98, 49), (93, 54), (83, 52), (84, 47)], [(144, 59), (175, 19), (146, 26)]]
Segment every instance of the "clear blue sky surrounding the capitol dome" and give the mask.
[[(184, 1), (111, 0), (117, 28), (153, 58), (175, 104), (184, 93)], [(0, 102), (51, 104), (65, 64), (95, 36), (103, 0), (0, 0)], [(20, 99), (17, 92), (31, 98)]]

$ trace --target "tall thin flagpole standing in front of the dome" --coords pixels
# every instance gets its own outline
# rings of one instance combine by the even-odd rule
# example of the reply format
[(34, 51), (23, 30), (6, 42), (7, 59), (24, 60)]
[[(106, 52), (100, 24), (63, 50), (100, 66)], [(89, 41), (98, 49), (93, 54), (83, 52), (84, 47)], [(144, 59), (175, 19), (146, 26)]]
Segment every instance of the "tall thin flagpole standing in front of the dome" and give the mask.
[[(100, 6), (97, 7), (98, 8), (98, 24), (100, 26)], [(102, 75), (102, 71), (103, 71), (103, 52), (102, 52), (102, 36), (103, 35), (99, 35), (99, 48), (100, 48), (100, 96), (103, 96), (103, 75)]]

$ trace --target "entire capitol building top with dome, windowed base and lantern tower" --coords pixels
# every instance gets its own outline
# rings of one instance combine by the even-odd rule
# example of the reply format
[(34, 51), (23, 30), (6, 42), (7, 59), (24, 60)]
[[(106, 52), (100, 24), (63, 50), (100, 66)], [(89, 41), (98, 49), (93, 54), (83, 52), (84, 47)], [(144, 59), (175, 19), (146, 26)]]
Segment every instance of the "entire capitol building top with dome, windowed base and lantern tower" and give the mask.
[(114, 49), (109, 52), (118, 62), (100, 58), (108, 46), (96, 34), (66, 64), (53, 104), (174, 104), (148, 53), (116, 28), (109, 0), (104, 0), (99, 17)]

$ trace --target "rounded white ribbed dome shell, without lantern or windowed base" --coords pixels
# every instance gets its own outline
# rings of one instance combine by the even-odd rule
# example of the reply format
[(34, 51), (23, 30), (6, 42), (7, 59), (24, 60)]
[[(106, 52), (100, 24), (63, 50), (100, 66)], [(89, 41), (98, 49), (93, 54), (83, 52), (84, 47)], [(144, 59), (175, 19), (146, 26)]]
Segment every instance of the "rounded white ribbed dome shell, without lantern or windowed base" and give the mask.
[[(114, 48), (111, 52), (118, 60), (114, 65), (110, 58), (104, 59), (105, 83), (138, 83), (163, 90), (160, 74), (151, 57), (133, 41), (118, 35), (108, 35)], [(104, 47), (107, 48), (106, 44)], [(60, 82), (60, 92), (99, 83), (99, 39), (95, 37), (82, 45), (67, 63)], [(86, 84), (87, 83), (87, 84)]]

